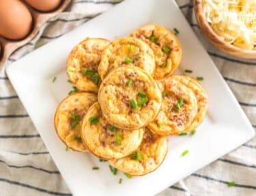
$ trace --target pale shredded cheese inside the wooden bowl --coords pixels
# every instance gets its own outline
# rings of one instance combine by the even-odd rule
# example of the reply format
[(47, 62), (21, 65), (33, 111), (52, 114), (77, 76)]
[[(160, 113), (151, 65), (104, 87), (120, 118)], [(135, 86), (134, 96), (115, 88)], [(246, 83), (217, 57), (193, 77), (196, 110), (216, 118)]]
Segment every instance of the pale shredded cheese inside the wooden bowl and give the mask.
[(203, 0), (203, 14), (225, 42), (256, 50), (255, 0)]

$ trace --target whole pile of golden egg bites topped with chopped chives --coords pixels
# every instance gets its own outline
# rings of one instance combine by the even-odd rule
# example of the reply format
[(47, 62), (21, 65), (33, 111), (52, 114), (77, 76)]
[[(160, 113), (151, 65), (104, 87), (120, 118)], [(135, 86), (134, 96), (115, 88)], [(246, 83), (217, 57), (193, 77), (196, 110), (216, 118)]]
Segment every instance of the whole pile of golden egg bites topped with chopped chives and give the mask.
[(181, 57), (177, 37), (154, 24), (114, 42), (85, 39), (68, 56), (79, 93), (59, 104), (57, 135), (131, 176), (154, 171), (167, 155), (167, 135), (195, 129), (207, 110), (196, 80), (172, 76)]

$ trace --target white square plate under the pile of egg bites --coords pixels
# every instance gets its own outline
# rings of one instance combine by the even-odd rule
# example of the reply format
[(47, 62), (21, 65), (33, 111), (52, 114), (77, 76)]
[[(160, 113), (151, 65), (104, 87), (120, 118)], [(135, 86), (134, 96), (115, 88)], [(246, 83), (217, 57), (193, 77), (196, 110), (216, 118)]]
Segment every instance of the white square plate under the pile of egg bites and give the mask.
[[(53, 126), (55, 109), (71, 86), (66, 58), (85, 37), (116, 39), (128, 36), (143, 24), (161, 24), (180, 31), (183, 56), (180, 71), (193, 69), (209, 96), (208, 115), (191, 137), (170, 137), (169, 153), (152, 174), (127, 179), (113, 176), (108, 163), (89, 153), (66, 152)], [(171, 0), (127, 0), (16, 61), (6, 69), (18, 97), (44, 140), (70, 191), (78, 195), (155, 195), (227, 152), (250, 140), (254, 133), (240, 105), (216, 66), (201, 46), (188, 22)], [(179, 70), (178, 70), (179, 71)], [(54, 76), (57, 80), (53, 83)], [(188, 149), (186, 157), (182, 152)], [(100, 170), (91, 167), (99, 166)], [(123, 183), (118, 184), (119, 178)]]

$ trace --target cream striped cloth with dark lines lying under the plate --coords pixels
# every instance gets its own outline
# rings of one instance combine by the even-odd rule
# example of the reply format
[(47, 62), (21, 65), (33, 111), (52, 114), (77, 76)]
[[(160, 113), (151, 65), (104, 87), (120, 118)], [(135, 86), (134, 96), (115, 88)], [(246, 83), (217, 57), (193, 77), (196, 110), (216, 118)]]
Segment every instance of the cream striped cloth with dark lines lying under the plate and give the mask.
[[(8, 63), (117, 3), (72, 1), (66, 12), (46, 22), (31, 42), (16, 50)], [(256, 128), (256, 61), (237, 59), (214, 48), (197, 26), (193, 1), (177, 0), (177, 3)], [(235, 186), (227, 186), (230, 181), (235, 181)], [(71, 195), (3, 69), (0, 71), (0, 195)], [(166, 195), (256, 195), (256, 139), (159, 193)]]

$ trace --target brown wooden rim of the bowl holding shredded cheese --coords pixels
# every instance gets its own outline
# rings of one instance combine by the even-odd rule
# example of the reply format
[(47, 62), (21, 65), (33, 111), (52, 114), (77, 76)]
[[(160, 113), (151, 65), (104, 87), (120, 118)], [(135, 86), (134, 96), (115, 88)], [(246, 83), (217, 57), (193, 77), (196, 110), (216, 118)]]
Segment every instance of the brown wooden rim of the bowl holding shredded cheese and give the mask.
[(197, 18), (197, 23), (201, 28), (201, 31), (205, 34), (206, 37), (221, 51), (231, 54), (233, 56), (240, 57), (242, 59), (256, 59), (256, 50), (245, 50), (242, 48), (238, 48), (233, 46), (233, 44), (229, 44), (225, 42), (223, 37), (219, 36), (212, 29), (210, 24), (205, 20), (203, 16), (203, 3), (202, 0), (194, 0), (194, 10), (195, 16)]

